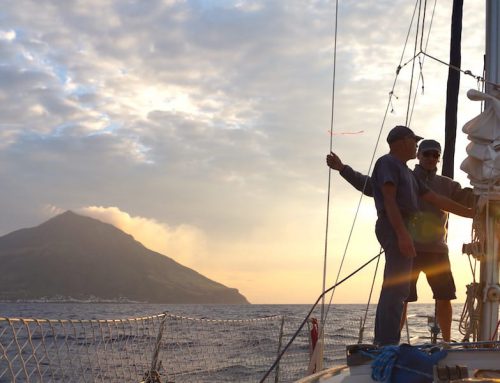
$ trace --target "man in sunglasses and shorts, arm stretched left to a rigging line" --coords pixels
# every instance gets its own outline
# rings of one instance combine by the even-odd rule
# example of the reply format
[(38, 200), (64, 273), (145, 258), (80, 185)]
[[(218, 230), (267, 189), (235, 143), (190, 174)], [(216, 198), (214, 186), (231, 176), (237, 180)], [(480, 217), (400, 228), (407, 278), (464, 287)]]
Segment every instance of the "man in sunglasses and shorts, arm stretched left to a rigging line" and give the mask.
[[(462, 188), (451, 178), (437, 174), (440, 158), (439, 142), (422, 140), (417, 150), (418, 164), (413, 169), (414, 176), (435, 193), (466, 207), (474, 206), (475, 197), (471, 188)], [(339, 171), (340, 175), (356, 189), (373, 197), (370, 177), (343, 164), (335, 153), (327, 155), (326, 162), (331, 169)], [(419, 199), (419, 210), (419, 214), (408, 224), (417, 256), (413, 259), (410, 294), (403, 308), (401, 328), (406, 318), (407, 303), (417, 301), (417, 280), (420, 272), (424, 272), (436, 300), (436, 317), (443, 340), (450, 342), (451, 300), (456, 299), (456, 288), (446, 244), (448, 213), (423, 199)]]

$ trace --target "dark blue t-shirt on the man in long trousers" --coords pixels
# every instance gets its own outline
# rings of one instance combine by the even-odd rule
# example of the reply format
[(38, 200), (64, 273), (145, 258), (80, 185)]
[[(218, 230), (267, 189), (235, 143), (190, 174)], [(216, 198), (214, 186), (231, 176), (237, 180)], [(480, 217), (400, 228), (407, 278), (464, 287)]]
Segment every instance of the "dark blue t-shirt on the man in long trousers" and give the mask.
[(396, 203), (405, 220), (419, 211), (419, 196), (429, 191), (405, 163), (391, 154), (380, 157), (372, 174), (373, 198), (379, 218), (387, 217), (382, 194), (382, 186), (386, 183), (392, 183), (396, 187)]

